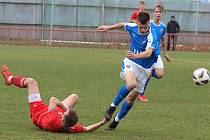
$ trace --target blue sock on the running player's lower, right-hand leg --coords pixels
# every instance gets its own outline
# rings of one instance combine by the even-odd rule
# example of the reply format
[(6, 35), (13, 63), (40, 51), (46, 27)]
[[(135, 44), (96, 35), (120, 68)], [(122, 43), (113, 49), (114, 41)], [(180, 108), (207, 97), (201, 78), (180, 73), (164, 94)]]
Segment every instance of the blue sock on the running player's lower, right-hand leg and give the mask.
[(132, 108), (133, 105), (129, 105), (126, 101), (122, 104), (120, 112), (117, 114), (115, 121), (120, 121), (122, 118), (125, 117), (125, 115), (128, 113), (128, 111)]

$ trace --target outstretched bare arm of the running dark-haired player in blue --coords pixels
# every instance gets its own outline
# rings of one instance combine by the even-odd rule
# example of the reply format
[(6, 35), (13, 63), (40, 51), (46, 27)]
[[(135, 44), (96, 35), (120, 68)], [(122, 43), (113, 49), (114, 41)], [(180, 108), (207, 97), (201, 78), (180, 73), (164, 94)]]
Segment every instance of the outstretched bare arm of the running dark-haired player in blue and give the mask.
[(113, 25), (101, 25), (98, 27), (97, 31), (98, 32), (106, 32), (109, 30), (113, 30), (113, 29), (120, 29), (123, 28), (125, 26), (126, 22), (120, 22), (117, 24), (113, 24)]

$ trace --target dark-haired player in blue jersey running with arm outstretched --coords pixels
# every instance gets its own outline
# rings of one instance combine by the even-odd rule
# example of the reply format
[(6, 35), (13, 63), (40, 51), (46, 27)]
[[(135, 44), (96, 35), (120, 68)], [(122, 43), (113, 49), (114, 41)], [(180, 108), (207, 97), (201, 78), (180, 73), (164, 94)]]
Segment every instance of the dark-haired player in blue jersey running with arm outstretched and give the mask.
[(126, 98), (120, 111), (109, 124), (110, 130), (117, 127), (120, 120), (132, 108), (138, 94), (143, 92), (151, 73), (151, 67), (157, 62), (158, 55), (160, 55), (160, 50), (157, 48), (157, 36), (155, 30), (150, 29), (149, 21), (149, 14), (141, 12), (136, 23), (121, 22), (109, 26), (102, 25), (97, 29), (98, 32), (105, 32), (124, 27), (129, 32), (131, 40), (130, 50), (126, 52), (126, 58), (123, 60), (122, 72), (120, 73), (121, 78), (125, 80), (125, 84), (120, 88), (105, 113), (105, 118), (110, 120), (119, 103)]

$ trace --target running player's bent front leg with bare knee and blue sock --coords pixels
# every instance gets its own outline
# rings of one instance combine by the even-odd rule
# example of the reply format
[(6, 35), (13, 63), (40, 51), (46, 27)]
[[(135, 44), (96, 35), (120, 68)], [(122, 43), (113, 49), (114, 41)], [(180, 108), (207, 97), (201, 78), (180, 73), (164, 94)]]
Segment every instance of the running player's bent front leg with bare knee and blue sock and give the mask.
[(110, 120), (112, 118), (112, 115), (114, 114), (114, 112), (115, 112), (117, 106), (120, 104), (120, 102), (128, 95), (128, 93), (131, 90), (133, 90), (136, 87), (136, 83), (137, 83), (136, 76), (133, 71), (126, 71), (126, 73), (124, 75), (124, 80), (125, 80), (126, 84), (121, 87), (121, 89), (119, 90), (113, 103), (106, 110), (105, 118), (107, 120)]

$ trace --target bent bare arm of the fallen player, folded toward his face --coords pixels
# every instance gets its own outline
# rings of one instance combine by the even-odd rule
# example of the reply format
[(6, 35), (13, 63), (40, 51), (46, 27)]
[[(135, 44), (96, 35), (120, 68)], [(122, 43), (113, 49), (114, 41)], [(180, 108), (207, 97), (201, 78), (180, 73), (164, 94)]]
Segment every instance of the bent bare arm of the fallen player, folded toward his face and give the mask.
[(67, 111), (68, 108), (57, 98), (51, 97), (48, 106), (48, 112), (53, 111), (57, 106), (61, 107), (63, 110)]

